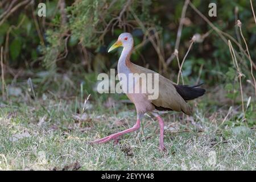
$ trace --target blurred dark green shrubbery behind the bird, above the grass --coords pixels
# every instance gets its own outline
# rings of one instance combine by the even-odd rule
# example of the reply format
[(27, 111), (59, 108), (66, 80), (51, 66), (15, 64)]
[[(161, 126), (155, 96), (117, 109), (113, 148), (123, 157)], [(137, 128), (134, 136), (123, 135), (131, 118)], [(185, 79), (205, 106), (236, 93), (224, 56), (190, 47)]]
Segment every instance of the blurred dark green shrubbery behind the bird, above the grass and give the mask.
[[(46, 17), (38, 16), (40, 2), (46, 3)], [(64, 90), (66, 86), (71, 88), (85, 80), (96, 81), (97, 73), (108, 73), (110, 68), (116, 68), (121, 49), (113, 53), (107, 53), (107, 50), (122, 32), (131, 32), (134, 36), (135, 50), (131, 60), (135, 64), (176, 81), (179, 71), (176, 57), (170, 64), (167, 60), (174, 53), (184, 2), (1, 1), (0, 46), (3, 47), (5, 84), (15, 84), (31, 77), (40, 88), (37, 91), (40, 95), (56, 84)], [(217, 17), (208, 15), (208, 5), (212, 2), (217, 5)], [(223, 32), (227, 40), (231, 37), (245, 49), (236, 26), (237, 19), (240, 19), (251, 59), (255, 60), (256, 25), (250, 1), (195, 0), (191, 3)], [(183, 65), (185, 84), (224, 84), (225, 90), (231, 92), (228, 97), (234, 99), (239, 86), (228, 45), (191, 5), (188, 5), (182, 22), (178, 48), (180, 61), (193, 35), (199, 38)], [(242, 82), (251, 86), (246, 81), (251, 80), (250, 61), (232, 43), (240, 55), (238, 64), (245, 75)], [(84, 76), (85, 73), (88, 74)], [(67, 77), (60, 76), (63, 74)], [(64, 79), (61, 86), (55, 79), (58, 75)], [(93, 92), (90, 88), (92, 85), (88, 85), (88, 93)], [(73, 90), (70, 93), (74, 93)]]

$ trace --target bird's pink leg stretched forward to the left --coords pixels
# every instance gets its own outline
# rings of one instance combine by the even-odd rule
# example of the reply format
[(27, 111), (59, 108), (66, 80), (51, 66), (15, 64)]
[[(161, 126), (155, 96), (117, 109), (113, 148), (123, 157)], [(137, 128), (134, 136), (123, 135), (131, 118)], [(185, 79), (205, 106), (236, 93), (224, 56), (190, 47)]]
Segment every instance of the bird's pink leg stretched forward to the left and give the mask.
[(140, 126), (141, 126), (141, 119), (138, 118), (136, 124), (133, 127), (131, 127), (130, 129), (120, 131), (118, 133), (109, 135), (108, 137), (104, 137), (104, 138), (101, 138), (101, 139), (94, 140), (90, 143), (105, 143), (105, 142), (108, 142), (109, 140), (115, 139), (115, 138), (117, 138), (117, 137), (119, 137), (123, 134), (130, 133), (132, 131), (138, 130)]

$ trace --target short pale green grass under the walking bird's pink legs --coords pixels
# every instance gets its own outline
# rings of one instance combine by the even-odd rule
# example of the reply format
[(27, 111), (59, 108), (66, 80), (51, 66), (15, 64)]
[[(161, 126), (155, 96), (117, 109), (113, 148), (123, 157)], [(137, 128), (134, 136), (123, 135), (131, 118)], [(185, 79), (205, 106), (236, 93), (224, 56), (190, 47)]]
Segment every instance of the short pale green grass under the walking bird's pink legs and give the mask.
[(134, 125), (134, 106), (118, 102), (122, 96), (92, 94), (84, 114), (76, 97), (9, 98), (0, 108), (0, 169), (255, 170), (255, 116), (240, 122), (241, 106), (218, 106), (211, 95), (192, 102), (193, 117), (163, 115), (168, 154), (159, 152), (158, 122), (149, 115), (118, 144), (87, 143)]

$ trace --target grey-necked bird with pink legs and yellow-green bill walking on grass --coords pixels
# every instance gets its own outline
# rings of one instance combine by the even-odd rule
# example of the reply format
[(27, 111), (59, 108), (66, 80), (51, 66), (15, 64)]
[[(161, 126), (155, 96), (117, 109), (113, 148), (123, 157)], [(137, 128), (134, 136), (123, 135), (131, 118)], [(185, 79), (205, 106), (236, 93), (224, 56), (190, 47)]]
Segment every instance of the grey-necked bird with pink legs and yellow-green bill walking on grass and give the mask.
[[(130, 61), (130, 56), (134, 47), (133, 36), (124, 32), (118, 36), (117, 42), (113, 44), (112, 47), (109, 48), (109, 51), (112, 51), (115, 48), (123, 47), (121, 56), (118, 60), (117, 71), (118, 74), (122, 73), (125, 75), (129, 74), (141, 74), (141, 73), (151, 73), (158, 74), (158, 86), (159, 93), (158, 98), (154, 100), (148, 99), (148, 93), (126, 93), (127, 97), (131, 102), (135, 105), (137, 111), (137, 122), (130, 129), (126, 129), (123, 131), (119, 131), (118, 133), (114, 133), (109, 135), (108, 137), (104, 137), (101, 139), (93, 140), (91, 143), (105, 143), (110, 140), (116, 140), (123, 134), (130, 133), (132, 131), (136, 131), (141, 126), (141, 120), (143, 115), (146, 113), (151, 113), (159, 122), (160, 127), (160, 137), (159, 137), (159, 148), (160, 151), (166, 151), (166, 147), (164, 146), (164, 121), (162, 117), (160, 117), (161, 111), (181, 111), (187, 115), (192, 115), (192, 107), (189, 106), (189, 100), (193, 100), (197, 97), (203, 96), (205, 93), (205, 89), (198, 88), (199, 85), (188, 86), (188, 85), (178, 85), (175, 82), (172, 82), (168, 78), (151, 71), (150, 69), (141, 67), (136, 65)], [(120, 78), (119, 78), (119, 81)], [(130, 84), (134, 84), (134, 82), (127, 81), (127, 86), (131, 86)], [(142, 88), (141, 81), (137, 81), (135, 85), (139, 88)]]

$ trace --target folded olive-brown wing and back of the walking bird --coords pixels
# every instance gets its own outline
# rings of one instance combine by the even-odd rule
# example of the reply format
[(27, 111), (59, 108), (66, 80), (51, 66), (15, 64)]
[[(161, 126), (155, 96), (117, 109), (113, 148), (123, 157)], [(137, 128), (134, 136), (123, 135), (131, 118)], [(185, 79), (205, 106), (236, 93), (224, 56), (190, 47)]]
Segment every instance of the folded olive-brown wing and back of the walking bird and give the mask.
[[(127, 67), (130, 69), (132, 73), (156, 73), (150, 69), (140, 67), (139, 65), (129, 63)], [(158, 73), (156, 73), (158, 74)], [(163, 110), (175, 110), (175, 111), (183, 111), (183, 113), (191, 115), (192, 109), (184, 101), (184, 99), (177, 93), (175, 89), (176, 85), (171, 80), (168, 80), (166, 77), (159, 75), (159, 97), (156, 100), (151, 100), (151, 103), (156, 107), (160, 107)], [(154, 78), (154, 77), (153, 77)]]

